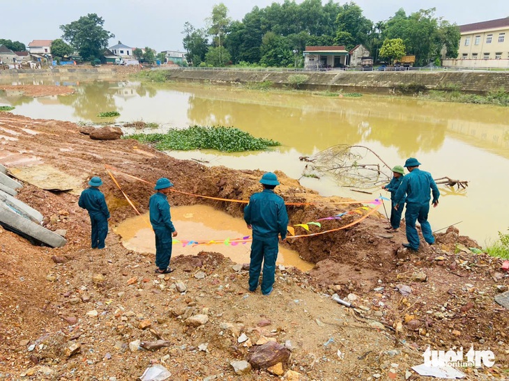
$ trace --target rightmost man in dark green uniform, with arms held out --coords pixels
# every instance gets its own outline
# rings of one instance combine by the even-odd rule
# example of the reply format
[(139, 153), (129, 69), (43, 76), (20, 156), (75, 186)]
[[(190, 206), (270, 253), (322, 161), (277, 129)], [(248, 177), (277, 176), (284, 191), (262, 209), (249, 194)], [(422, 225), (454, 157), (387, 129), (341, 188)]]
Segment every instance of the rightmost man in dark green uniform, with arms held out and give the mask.
[(407, 225), (407, 240), (409, 240), (409, 243), (404, 243), (403, 246), (417, 250), (420, 242), (416, 229), (416, 221), (419, 221), (424, 240), (429, 244), (434, 244), (435, 242), (430, 223), (427, 221), (427, 215), (430, 212), (430, 189), (433, 194), (432, 204), (434, 208), (439, 205), (440, 192), (431, 173), (420, 171), (420, 162), (415, 157), (409, 157), (404, 166), (410, 173), (404, 176), (400, 187), (397, 189), (395, 195), (397, 205), (395, 209), (402, 208), (406, 194), (407, 211), (404, 214), (404, 218)]

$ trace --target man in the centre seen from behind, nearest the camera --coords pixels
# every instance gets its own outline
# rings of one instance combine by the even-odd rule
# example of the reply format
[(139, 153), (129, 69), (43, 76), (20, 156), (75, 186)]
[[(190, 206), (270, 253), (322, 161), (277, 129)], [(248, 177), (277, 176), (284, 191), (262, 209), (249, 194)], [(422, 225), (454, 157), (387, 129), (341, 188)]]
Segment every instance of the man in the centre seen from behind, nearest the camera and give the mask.
[(288, 214), (281, 196), (274, 193), (279, 185), (278, 178), (272, 172), (261, 176), (264, 190), (253, 194), (244, 208), (244, 220), (252, 229), (251, 261), (249, 267), (249, 290), (254, 293), (258, 288), (261, 263), (264, 272), (261, 278), (261, 293), (270, 295), (275, 277), (275, 261), (278, 258), (278, 236), (287, 238)]

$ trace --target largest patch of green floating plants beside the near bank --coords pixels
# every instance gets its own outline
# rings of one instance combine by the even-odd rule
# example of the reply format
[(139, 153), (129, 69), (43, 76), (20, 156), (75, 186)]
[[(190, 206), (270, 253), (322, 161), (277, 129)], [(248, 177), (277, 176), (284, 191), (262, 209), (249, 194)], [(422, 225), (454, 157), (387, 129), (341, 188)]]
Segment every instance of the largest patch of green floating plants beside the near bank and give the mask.
[(185, 130), (170, 129), (166, 134), (132, 134), (124, 139), (136, 139), (149, 143), (158, 150), (199, 150), (211, 149), (222, 152), (264, 150), (280, 146), (272, 139), (255, 138), (248, 132), (234, 127), (193, 125)]

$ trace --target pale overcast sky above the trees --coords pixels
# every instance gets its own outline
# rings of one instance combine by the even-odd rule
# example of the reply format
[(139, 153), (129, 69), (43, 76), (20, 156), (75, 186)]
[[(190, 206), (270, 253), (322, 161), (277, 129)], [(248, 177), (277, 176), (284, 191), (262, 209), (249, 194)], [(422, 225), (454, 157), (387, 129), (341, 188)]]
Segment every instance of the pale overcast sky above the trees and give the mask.
[[(114, 33), (110, 46), (118, 40), (130, 47), (182, 50), (184, 22), (196, 27), (213, 6), (224, 3), (233, 20), (241, 20), (254, 6), (264, 8), (282, 0), (1, 0), (0, 38), (54, 40), (61, 37), (61, 24), (68, 24), (88, 13), (105, 20), (105, 29)], [(297, 0), (301, 3), (302, 0)], [(326, 0), (322, 1), (322, 3)], [(346, 1), (338, 1), (345, 3)], [(436, 15), (458, 25), (509, 17), (508, 0), (357, 0), (364, 15), (373, 22), (387, 20), (399, 8), (407, 13), (420, 8), (436, 8)], [(404, 5), (402, 5), (404, 4)]]

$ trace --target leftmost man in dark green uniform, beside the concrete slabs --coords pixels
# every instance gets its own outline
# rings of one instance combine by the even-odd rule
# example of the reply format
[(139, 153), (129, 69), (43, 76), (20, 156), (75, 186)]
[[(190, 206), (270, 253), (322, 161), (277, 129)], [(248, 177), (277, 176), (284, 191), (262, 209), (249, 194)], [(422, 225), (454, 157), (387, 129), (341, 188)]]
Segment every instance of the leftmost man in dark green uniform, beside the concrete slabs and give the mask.
[(99, 187), (102, 180), (93, 176), (89, 181), (90, 187), (85, 189), (79, 196), (79, 208), (89, 212), (92, 225), (92, 249), (104, 249), (105, 240), (108, 235), (109, 210), (106, 205), (105, 195), (100, 192)]

